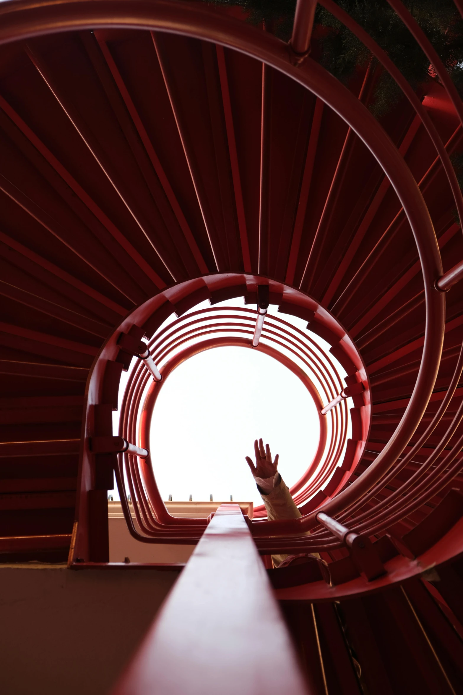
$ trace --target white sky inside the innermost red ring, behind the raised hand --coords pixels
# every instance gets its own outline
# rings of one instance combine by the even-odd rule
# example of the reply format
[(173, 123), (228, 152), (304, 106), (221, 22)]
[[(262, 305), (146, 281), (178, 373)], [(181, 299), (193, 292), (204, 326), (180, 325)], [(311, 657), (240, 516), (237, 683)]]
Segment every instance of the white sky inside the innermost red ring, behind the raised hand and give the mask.
[(292, 486), (319, 444), (316, 404), (301, 379), (267, 354), (205, 350), (181, 363), (160, 391), (151, 420), (151, 460), (162, 498), (262, 504), (246, 464), (254, 440), (269, 443)]

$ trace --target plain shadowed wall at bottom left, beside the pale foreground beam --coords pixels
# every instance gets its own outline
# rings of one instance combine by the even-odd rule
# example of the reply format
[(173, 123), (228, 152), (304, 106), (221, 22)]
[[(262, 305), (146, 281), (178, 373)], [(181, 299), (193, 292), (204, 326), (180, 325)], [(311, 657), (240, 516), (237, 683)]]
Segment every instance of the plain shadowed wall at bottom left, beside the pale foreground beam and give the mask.
[(174, 571), (0, 567), (2, 695), (105, 695)]

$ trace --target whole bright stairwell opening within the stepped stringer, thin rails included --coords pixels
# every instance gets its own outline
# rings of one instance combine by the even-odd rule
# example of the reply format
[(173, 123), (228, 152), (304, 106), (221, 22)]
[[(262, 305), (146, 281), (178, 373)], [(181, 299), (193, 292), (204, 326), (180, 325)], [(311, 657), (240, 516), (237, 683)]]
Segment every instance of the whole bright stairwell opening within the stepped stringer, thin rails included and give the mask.
[(237, 300), (201, 302), (180, 318), (171, 315), (149, 341), (162, 382), (153, 382), (136, 359), (121, 379), (115, 432), (149, 448), (150, 494), (174, 502), (233, 496), (254, 502), (255, 515), (264, 515), (245, 461), (259, 437), (280, 455), (297, 505), (333, 475), (342, 482), (350, 404), (343, 401), (326, 416), (320, 411), (344, 388), (346, 371), (317, 334), (321, 329), (312, 332), (312, 323), (278, 306), (269, 306), (260, 343), (251, 348), (256, 316)]

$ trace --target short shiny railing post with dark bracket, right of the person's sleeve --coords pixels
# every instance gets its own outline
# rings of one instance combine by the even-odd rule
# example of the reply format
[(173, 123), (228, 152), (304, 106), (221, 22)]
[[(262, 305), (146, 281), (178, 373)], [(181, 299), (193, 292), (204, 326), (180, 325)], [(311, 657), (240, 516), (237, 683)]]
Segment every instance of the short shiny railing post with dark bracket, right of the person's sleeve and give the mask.
[(360, 574), (364, 575), (368, 582), (385, 575), (386, 570), (382, 564), (376, 548), (367, 536), (362, 536), (343, 526), (339, 521), (328, 516), (324, 512), (316, 514), (317, 521), (328, 529), (333, 536), (342, 541), (348, 548), (349, 555)]

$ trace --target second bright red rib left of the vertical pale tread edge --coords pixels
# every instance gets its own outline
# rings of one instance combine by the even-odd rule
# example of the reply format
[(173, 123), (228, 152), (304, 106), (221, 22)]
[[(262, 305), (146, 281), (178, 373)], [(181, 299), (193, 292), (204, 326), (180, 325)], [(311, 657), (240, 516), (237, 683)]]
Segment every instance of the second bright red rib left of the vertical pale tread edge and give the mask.
[(110, 49), (108, 48), (108, 44), (105, 40), (103, 40), (99, 32), (96, 32), (95, 36), (96, 40), (99, 42), (99, 46), (106, 60), (106, 63), (108, 63), (108, 67), (115, 80), (115, 83), (117, 84), (117, 88), (121, 93), (121, 97), (124, 99), (124, 104), (126, 104), (127, 111), (131, 115), (133, 123), (135, 124), (135, 128), (137, 129), (140, 139), (143, 142), (144, 148), (146, 149), (146, 152), (151, 160), (151, 164), (153, 165), (153, 168), (156, 174), (158, 175), (158, 179), (160, 180), (162, 188), (164, 188), (165, 190), (165, 194), (167, 196), (167, 199), (169, 200), (169, 203), (172, 206), (172, 210), (176, 215), (178, 224), (180, 224), (180, 228), (182, 229), (185, 239), (187, 240), (187, 243), (190, 246), (190, 250), (194, 256), (194, 259), (198, 264), (198, 268), (201, 273), (205, 274), (208, 272), (208, 266), (205, 264), (203, 256), (201, 255), (201, 251), (199, 250), (199, 247), (196, 243), (196, 239), (194, 238), (192, 230), (190, 229), (190, 225), (188, 224), (185, 215), (183, 214), (183, 210), (180, 206), (180, 203), (177, 200), (177, 197), (169, 182), (169, 179), (167, 178), (167, 174), (165, 173), (162, 164), (160, 163), (158, 154), (155, 152), (153, 143), (151, 142), (151, 139), (149, 138), (149, 135), (146, 132), (146, 128), (144, 127), (142, 119), (139, 113), (137, 112), (137, 108), (133, 103), (132, 97), (128, 92), (126, 84), (124, 83), (124, 80), (122, 79), (119, 70), (117, 69), (115, 60), (114, 58), (112, 58)]

